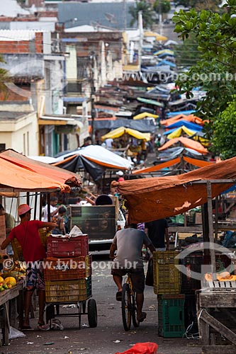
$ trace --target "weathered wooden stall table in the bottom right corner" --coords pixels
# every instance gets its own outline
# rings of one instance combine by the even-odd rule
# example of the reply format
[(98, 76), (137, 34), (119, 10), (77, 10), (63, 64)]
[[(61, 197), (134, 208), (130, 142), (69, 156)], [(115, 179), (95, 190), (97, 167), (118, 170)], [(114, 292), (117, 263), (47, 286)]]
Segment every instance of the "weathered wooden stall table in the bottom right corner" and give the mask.
[[(228, 284), (227, 284), (228, 283)], [(236, 286), (236, 284), (233, 284)], [(225, 287), (206, 287), (198, 290), (198, 328), (203, 354), (236, 353), (236, 287), (225, 282)], [(232, 345), (215, 343), (215, 338), (226, 338)], [(222, 345), (221, 345), (222, 344)]]

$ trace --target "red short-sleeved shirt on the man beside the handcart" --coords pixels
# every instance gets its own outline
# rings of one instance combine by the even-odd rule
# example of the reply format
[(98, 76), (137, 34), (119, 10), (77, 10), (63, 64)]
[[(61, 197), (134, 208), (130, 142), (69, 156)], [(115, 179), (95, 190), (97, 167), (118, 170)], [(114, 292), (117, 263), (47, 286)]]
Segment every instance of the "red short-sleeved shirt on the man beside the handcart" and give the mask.
[(46, 251), (38, 233), (38, 229), (42, 227), (43, 222), (40, 220), (31, 220), (18, 224), (9, 234), (9, 239), (13, 240), (16, 237), (18, 240), (26, 262), (40, 261), (46, 258)]

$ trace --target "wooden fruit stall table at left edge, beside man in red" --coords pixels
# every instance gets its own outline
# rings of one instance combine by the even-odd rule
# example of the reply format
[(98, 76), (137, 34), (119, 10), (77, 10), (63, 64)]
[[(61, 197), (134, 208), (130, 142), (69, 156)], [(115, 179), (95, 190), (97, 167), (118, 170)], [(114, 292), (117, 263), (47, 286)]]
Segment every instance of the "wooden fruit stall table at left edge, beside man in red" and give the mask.
[(23, 289), (26, 286), (26, 280), (21, 280), (16, 286), (9, 290), (0, 292), (0, 307), (2, 315), (0, 326), (2, 331), (1, 345), (8, 346), (10, 326), (16, 325), (16, 315), (19, 315), (19, 327), (23, 321)]

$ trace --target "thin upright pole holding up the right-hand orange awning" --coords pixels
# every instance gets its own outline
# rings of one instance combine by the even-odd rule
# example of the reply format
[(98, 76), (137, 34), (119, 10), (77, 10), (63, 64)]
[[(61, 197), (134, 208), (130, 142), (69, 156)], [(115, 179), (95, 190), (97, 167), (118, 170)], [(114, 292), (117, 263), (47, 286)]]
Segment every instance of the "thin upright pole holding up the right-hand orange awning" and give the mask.
[(212, 265), (213, 280), (216, 280), (216, 268), (215, 268), (215, 244), (213, 233), (213, 215), (212, 215), (212, 195), (211, 195), (211, 183), (207, 181), (207, 193), (208, 193), (208, 225), (209, 225), (209, 239), (210, 239), (210, 263)]

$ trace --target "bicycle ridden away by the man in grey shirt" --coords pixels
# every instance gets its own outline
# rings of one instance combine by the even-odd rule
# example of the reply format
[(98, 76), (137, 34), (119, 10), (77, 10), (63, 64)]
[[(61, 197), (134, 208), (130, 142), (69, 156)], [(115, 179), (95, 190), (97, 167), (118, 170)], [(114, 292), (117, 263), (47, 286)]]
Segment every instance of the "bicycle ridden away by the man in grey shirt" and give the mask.
[(131, 327), (131, 319), (133, 326), (137, 328), (140, 323), (137, 321), (137, 305), (136, 305), (136, 293), (133, 290), (133, 283), (130, 273), (127, 273), (127, 278), (122, 287), (122, 321), (125, 331), (129, 331)]

